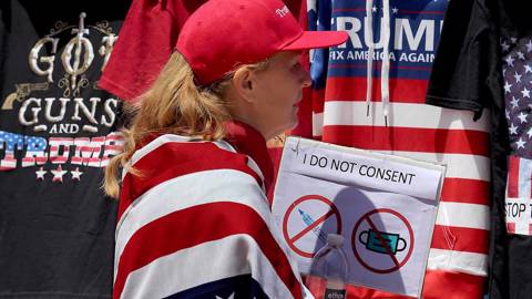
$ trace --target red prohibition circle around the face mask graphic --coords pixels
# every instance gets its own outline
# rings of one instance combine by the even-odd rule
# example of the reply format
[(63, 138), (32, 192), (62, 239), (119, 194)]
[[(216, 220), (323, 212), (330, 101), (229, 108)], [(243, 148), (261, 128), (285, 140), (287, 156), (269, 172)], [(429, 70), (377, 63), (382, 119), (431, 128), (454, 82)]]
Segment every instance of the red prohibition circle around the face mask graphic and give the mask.
[[(360, 226), (360, 224), (366, 218), (369, 219), (369, 216), (371, 216), (374, 214), (377, 214), (377, 213), (389, 213), (389, 214), (398, 217), (400, 220), (402, 220), (405, 223), (405, 225), (407, 226), (408, 233), (410, 234), (410, 248), (408, 249), (407, 256), (405, 257), (405, 259), (401, 262), (396, 264), (395, 267), (391, 267), (389, 269), (377, 269), (377, 268), (374, 268), (374, 267), (369, 266), (366, 261), (362, 260), (362, 258), (358, 254), (357, 247), (356, 247), (356, 244), (355, 244), (355, 241), (357, 240), (357, 237), (356, 237), (357, 230), (358, 230), (358, 227)], [(370, 210), (370, 212), (364, 214), (364, 216), (360, 217), (360, 219), (355, 225), (355, 228), (352, 229), (352, 234), (351, 234), (351, 247), (352, 247), (352, 252), (355, 254), (355, 257), (366, 269), (368, 269), (372, 272), (377, 272), (377, 274), (393, 272), (393, 271), (398, 270), (399, 268), (401, 268), (402, 266), (405, 266), (405, 264), (407, 264), (408, 259), (412, 255), (412, 250), (413, 250), (413, 229), (410, 226), (410, 224), (408, 223), (408, 219), (405, 216), (402, 216), (401, 214), (399, 214), (399, 213), (397, 213), (392, 209), (389, 209), (389, 208), (377, 208), (377, 209), (374, 209), (374, 210)]]

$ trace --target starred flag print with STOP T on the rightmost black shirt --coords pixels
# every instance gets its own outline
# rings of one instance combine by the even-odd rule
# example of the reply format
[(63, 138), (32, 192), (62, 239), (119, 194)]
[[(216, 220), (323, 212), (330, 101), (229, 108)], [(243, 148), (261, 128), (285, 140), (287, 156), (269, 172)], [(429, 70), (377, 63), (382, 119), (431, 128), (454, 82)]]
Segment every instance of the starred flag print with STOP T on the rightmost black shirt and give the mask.
[(501, 39), (505, 116), (511, 155), (505, 195), (507, 230), (532, 235), (532, 40)]

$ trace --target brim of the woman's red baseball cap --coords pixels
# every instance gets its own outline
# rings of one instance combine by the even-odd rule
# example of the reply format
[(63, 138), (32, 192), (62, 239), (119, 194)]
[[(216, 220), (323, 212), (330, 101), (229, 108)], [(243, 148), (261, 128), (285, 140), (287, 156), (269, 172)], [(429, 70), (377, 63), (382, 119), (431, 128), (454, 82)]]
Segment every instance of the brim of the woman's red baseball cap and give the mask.
[(283, 50), (306, 50), (329, 48), (347, 41), (346, 31), (304, 31), (303, 34), (284, 47)]

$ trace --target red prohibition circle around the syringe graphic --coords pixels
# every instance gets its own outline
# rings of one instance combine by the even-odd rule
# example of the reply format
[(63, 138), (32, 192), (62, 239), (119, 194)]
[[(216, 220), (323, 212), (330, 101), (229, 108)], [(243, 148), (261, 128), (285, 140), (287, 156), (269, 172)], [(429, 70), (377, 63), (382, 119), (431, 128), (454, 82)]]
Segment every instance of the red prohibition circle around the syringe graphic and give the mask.
[[(335, 204), (331, 200), (329, 200), (328, 198), (326, 198), (321, 195), (315, 195), (315, 194), (314, 195), (305, 195), (303, 197), (299, 197), (297, 200), (291, 203), (291, 205), (286, 209), (285, 217), (283, 218), (283, 235), (285, 237), (286, 243), (291, 248), (291, 250), (294, 250), (296, 254), (298, 254), (303, 257), (306, 257), (306, 258), (313, 258), (315, 252), (306, 252), (306, 251), (303, 251), (301, 249), (296, 247), (295, 243), (297, 240), (293, 240), (293, 238), (290, 238), (288, 236), (288, 217), (291, 214), (291, 212), (294, 212), (294, 208), (296, 208), (297, 205), (299, 205), (303, 202), (313, 200), (313, 199), (323, 202), (323, 203), (327, 204), (328, 206), (330, 206), (330, 212), (328, 212), (327, 214), (332, 213), (332, 215), (336, 216), (336, 223), (337, 223), (336, 234), (338, 234), (338, 235), (341, 234), (340, 212), (338, 210), (338, 208), (335, 206)], [(325, 215), (327, 215), (327, 214), (325, 214)], [(328, 217), (326, 217), (326, 218), (328, 218)], [(323, 219), (323, 221), (325, 221), (325, 219)]]

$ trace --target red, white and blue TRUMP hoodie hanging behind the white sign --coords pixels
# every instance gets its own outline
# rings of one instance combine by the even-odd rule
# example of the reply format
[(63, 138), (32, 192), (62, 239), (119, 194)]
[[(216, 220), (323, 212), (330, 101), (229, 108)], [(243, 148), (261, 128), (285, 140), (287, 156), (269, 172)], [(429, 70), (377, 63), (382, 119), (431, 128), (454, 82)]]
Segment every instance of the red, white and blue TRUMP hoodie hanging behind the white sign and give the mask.
[[(366, 4), (361, 0), (308, 0), (309, 28), (347, 30), (344, 45), (311, 55), (313, 137), (446, 164), (447, 176), (434, 226), (423, 298), (481, 298), (489, 249), (489, 118), (424, 104), (428, 80), (448, 0), (372, 1), (375, 58), (368, 87)], [(387, 7), (388, 6), (388, 7)], [(390, 16), (389, 115), (385, 121), (381, 70)], [(362, 288), (357, 298), (399, 298)]]

